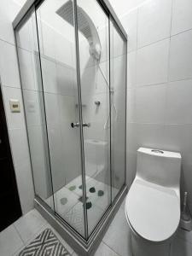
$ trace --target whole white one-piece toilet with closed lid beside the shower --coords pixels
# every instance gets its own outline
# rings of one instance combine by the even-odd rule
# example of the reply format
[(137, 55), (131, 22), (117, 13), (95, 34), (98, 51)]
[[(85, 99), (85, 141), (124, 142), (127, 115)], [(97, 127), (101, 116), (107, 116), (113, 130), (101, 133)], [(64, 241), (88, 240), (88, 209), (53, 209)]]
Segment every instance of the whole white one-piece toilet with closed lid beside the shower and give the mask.
[(137, 173), (125, 200), (133, 256), (170, 256), (180, 221), (181, 154), (137, 150)]

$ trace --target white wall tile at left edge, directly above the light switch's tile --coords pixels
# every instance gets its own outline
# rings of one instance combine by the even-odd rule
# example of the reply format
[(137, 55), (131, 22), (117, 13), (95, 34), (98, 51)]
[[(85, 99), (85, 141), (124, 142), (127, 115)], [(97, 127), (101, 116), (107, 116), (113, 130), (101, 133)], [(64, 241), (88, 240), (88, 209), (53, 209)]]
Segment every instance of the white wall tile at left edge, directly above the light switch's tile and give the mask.
[(0, 40), (0, 55), (0, 76), (2, 84), (20, 87), (20, 75), (15, 46)]

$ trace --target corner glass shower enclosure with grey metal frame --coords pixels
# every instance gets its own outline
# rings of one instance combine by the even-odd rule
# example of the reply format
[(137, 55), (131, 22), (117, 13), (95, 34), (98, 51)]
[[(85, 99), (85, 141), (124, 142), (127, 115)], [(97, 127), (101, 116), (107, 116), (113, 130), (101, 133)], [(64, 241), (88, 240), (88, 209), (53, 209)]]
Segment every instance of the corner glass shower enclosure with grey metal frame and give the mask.
[(124, 29), (96, 0), (27, 1), (14, 27), (35, 202), (88, 244), (126, 190)]

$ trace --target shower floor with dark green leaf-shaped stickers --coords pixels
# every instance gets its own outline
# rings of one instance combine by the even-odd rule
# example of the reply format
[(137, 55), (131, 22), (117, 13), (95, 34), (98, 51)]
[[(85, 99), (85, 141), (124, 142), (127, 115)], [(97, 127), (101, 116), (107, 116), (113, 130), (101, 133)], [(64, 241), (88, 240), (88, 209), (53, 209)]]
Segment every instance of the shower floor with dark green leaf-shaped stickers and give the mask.
[[(102, 218), (104, 212), (110, 204), (110, 186), (108, 184), (97, 181), (93, 177), (86, 175), (86, 196), (87, 202), (91, 203), (91, 207), (87, 210), (87, 217), (89, 223), (89, 234), (94, 230), (96, 224)], [(68, 224), (70, 224), (75, 230), (84, 236), (84, 212), (82, 201), (79, 198), (82, 197), (82, 177), (76, 177), (66, 186), (56, 191), (54, 194), (55, 199), (55, 211), (64, 218)], [(90, 188), (94, 188), (95, 192), (91, 193)], [(103, 195), (99, 196), (98, 192), (102, 191)], [(113, 188), (113, 193), (116, 195), (118, 189)], [(61, 203), (61, 200), (66, 201), (65, 204)], [(50, 201), (50, 198), (48, 198)]]

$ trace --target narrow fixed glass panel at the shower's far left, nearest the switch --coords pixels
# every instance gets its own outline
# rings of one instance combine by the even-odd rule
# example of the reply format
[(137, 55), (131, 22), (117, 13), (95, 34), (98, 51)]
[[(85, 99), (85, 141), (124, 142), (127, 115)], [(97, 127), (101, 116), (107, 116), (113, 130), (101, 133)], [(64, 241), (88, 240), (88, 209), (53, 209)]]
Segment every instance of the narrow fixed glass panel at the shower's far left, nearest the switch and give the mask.
[(17, 28), (16, 43), (34, 189), (36, 195), (53, 209), (47, 127), (38, 56), (37, 24), (34, 12), (28, 15), (25, 22), (22, 22)]

